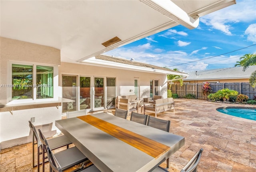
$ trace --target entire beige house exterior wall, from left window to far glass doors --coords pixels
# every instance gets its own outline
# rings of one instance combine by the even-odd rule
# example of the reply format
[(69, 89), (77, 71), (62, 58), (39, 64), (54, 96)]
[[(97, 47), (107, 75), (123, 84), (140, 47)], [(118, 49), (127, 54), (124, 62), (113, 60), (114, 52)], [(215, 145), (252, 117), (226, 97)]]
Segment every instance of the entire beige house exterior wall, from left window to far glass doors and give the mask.
[[(159, 80), (160, 95), (167, 97), (166, 74), (60, 62), (60, 50), (56, 48), (9, 38), (1, 37), (0, 45), (0, 85), (12, 84), (11, 62), (17, 62), (54, 66), (54, 98), (51, 99), (53, 101), (62, 96), (62, 74), (115, 77), (117, 95), (134, 94), (134, 78), (136, 78), (139, 80), (141, 97), (150, 96), (150, 80)], [(32, 117), (35, 118), (34, 126), (41, 128), (46, 137), (59, 132), (54, 121), (61, 119), (62, 106), (47, 106), (44, 100), (24, 100), (26, 106), (18, 106), (16, 100), (10, 101), (11, 92), (10, 87), (0, 87), (0, 149), (31, 142), (32, 132), (28, 120)], [(10, 103), (13, 105), (10, 106)], [(6, 108), (5, 105), (9, 107)], [(6, 110), (8, 108), (9, 110)]]

